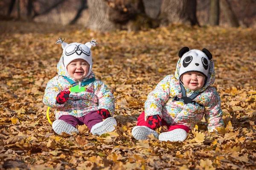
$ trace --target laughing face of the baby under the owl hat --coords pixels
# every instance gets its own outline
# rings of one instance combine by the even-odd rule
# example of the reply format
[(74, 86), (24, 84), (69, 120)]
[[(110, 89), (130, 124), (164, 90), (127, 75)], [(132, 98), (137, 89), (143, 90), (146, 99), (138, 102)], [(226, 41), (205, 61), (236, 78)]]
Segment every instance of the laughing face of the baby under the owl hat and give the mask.
[(67, 65), (67, 73), (74, 79), (81, 80), (87, 76), (90, 65), (84, 59), (75, 59)]

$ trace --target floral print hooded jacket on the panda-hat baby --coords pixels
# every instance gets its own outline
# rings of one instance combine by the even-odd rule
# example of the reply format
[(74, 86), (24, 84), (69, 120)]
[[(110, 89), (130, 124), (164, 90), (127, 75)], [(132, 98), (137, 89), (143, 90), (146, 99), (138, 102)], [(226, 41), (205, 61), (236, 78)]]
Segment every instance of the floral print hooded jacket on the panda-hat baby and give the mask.
[(186, 125), (191, 129), (205, 116), (209, 132), (215, 131), (215, 127), (224, 126), (220, 96), (216, 89), (210, 86), (215, 81), (213, 61), (210, 61), (209, 77), (204, 87), (192, 91), (184, 86), (188, 97), (201, 92), (193, 99), (200, 106), (173, 100), (175, 96), (182, 97), (179, 70), (180, 59), (177, 62), (175, 75), (166, 76), (158, 83), (154, 91), (148, 94), (145, 102), (145, 121), (147, 121), (148, 116), (159, 115), (168, 125)]

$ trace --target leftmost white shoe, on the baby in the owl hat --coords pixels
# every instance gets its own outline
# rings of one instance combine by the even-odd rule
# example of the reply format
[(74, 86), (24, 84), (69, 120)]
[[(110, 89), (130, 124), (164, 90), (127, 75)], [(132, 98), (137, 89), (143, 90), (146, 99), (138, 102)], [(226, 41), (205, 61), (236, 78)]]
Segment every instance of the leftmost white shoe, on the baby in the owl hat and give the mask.
[(78, 129), (76, 127), (73, 127), (72, 125), (68, 124), (64, 120), (55, 120), (52, 123), (52, 128), (57, 134), (61, 134), (62, 132), (71, 134), (71, 132), (78, 132)]

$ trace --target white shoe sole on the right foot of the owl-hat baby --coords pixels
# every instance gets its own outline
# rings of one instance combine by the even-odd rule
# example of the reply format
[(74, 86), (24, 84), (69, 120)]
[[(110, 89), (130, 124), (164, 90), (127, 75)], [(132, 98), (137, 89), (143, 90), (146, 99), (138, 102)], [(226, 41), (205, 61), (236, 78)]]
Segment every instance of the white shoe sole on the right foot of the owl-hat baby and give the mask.
[(106, 132), (113, 132), (116, 129), (115, 127), (116, 125), (117, 125), (116, 119), (113, 117), (109, 117), (104, 121), (99, 122), (96, 125), (93, 125), (90, 132), (93, 133), (93, 135), (101, 136)]

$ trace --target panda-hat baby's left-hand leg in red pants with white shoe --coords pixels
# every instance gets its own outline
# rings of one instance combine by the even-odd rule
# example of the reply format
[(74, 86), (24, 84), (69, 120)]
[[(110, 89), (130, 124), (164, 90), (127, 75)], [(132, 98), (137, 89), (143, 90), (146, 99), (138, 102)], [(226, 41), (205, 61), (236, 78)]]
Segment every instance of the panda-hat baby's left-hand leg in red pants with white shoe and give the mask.
[(135, 126), (131, 131), (131, 134), (132, 136), (134, 136), (135, 139), (146, 140), (148, 138), (148, 135), (150, 135), (151, 133), (156, 138), (158, 138), (157, 131), (153, 130), (148, 122), (145, 122), (145, 112), (142, 112), (137, 120), (137, 126)]

